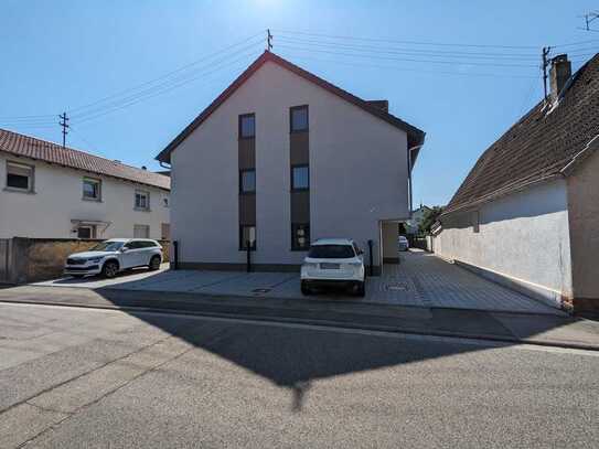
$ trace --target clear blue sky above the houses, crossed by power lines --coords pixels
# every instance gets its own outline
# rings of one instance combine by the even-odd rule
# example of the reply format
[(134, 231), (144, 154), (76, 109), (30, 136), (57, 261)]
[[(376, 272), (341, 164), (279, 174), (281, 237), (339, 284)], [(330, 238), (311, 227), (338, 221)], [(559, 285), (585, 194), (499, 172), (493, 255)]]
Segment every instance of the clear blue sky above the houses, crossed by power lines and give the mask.
[(387, 98), (427, 132), (415, 203), (445, 204), (541, 99), (542, 46), (574, 53), (574, 68), (599, 49), (599, 34), (579, 29), (597, 2), (574, 3), (3, 0), (0, 127), (58, 142), (53, 116), (68, 110), (67, 145), (159, 169), (154, 156), (261, 53), (270, 28), (276, 53)]

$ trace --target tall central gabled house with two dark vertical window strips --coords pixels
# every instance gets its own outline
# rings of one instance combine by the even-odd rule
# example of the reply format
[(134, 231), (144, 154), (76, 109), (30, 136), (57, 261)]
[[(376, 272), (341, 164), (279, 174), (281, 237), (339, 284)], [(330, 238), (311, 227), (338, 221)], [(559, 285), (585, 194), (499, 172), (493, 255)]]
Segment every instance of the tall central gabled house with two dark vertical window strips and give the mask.
[[(171, 164), (183, 267), (296, 270), (310, 242), (397, 253), (425, 133), (265, 52), (158, 157)], [(395, 234), (393, 233), (395, 229)]]

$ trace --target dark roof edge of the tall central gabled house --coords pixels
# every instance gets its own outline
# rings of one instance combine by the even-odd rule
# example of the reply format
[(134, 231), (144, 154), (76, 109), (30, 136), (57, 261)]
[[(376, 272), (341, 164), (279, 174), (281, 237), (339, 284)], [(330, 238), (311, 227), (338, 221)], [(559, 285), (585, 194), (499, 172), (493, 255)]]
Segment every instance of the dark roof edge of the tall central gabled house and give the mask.
[[(308, 71), (304, 71), (301, 67), (298, 67), (295, 64), (291, 64), (289, 61), (284, 60), (282, 57), (276, 55), (272, 52), (265, 51), (256, 61), (254, 61), (249, 67), (245, 70), (244, 73), (242, 73), (237, 79), (235, 79), (221, 95), (216, 97), (214, 101), (212, 101), (208, 107), (206, 107), (190, 125), (183, 129), (177, 136), (173, 141), (171, 141), (167, 148), (164, 148), (157, 157), (161, 162), (170, 162), (171, 160), (171, 152), (183, 141), (185, 138), (191, 135), (195, 128), (197, 128), (202, 122), (210, 117), (212, 113), (214, 113), (218, 106), (221, 106), (223, 103), (226, 101), (235, 90), (237, 90), (254, 73), (260, 68), (266, 62), (272, 62), (275, 64), (280, 65), (284, 68), (287, 68), (288, 71), (293, 72), (296, 75), (301, 76), (304, 79), (308, 79), (311, 83), (317, 84), (318, 86), (329, 90), (330, 93), (338, 95), (339, 97), (345, 99), (346, 101), (352, 103), (353, 105), (364, 109), (365, 111), (372, 114), (375, 117), (378, 117), (382, 120), (387, 121), (388, 124), (404, 130), (408, 135), (408, 146), (414, 147), (417, 145), (421, 145), (425, 141), (425, 132), (420, 129), (409, 125), (408, 122), (393, 116), (392, 114), (385, 111), (381, 107), (377, 107), (376, 105), (373, 105), (372, 103), (368, 103), (366, 100), (363, 100), (362, 98), (356, 97), (355, 95), (350, 94), (346, 90), (343, 90), (340, 87), (334, 86), (333, 84), (318, 77), (317, 75), (311, 74)], [(413, 160), (416, 159), (417, 154), (413, 156)]]

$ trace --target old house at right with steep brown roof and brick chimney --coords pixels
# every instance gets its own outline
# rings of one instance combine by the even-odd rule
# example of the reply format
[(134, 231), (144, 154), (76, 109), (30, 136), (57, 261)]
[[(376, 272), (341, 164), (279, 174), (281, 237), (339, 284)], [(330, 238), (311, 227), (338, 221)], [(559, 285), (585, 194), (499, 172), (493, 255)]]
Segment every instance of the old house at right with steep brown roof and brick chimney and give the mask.
[(599, 310), (599, 55), (574, 76), (553, 60), (550, 95), (479, 159), (435, 250), (549, 303)]

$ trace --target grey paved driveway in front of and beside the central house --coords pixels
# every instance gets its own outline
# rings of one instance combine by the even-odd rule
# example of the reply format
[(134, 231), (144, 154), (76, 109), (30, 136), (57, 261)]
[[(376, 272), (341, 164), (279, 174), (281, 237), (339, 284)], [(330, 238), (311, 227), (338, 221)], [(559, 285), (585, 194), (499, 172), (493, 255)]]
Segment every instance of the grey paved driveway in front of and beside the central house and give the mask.
[[(116, 279), (64, 278), (41, 286), (110, 288), (214, 296), (304, 298), (298, 274), (169, 270), (132, 271)], [(324, 292), (318, 299), (343, 299), (396, 306), (561, 314), (557, 309), (488, 281), (431, 254), (411, 250), (400, 265), (385, 265), (381, 277), (368, 278), (366, 297)]]

